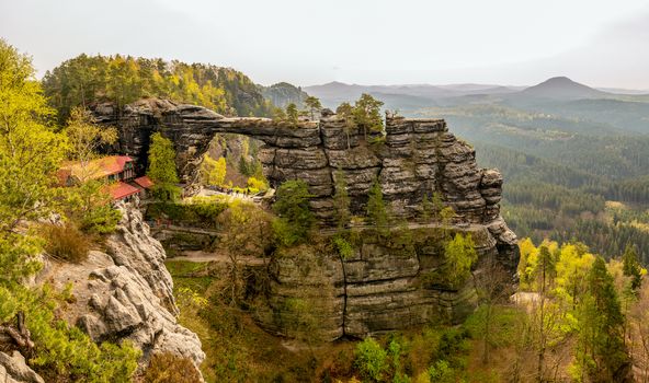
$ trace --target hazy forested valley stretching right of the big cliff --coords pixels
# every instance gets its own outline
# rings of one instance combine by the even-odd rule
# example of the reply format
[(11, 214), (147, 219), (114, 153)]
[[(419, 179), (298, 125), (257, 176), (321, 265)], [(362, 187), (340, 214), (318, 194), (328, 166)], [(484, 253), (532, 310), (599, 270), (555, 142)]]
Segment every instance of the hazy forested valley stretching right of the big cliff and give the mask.
[(648, 263), (649, 135), (639, 121), (646, 107), (636, 105), (637, 113), (624, 119), (626, 108), (603, 118), (602, 111), (588, 113), (596, 101), (568, 104), (579, 105), (579, 113), (556, 103), (420, 113), (446, 118), (453, 132), (475, 146), (481, 166), (503, 173), (502, 213), (519, 235), (581, 241), (608, 258), (630, 244)]

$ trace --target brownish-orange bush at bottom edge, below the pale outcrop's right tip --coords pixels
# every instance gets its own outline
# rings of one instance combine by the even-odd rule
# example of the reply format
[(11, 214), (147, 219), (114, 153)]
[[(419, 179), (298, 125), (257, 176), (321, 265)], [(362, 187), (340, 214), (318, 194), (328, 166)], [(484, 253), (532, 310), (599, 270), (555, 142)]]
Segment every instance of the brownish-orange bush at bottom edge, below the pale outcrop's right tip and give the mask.
[(201, 375), (191, 360), (166, 352), (153, 355), (143, 381), (145, 383), (200, 382)]

